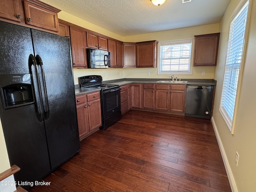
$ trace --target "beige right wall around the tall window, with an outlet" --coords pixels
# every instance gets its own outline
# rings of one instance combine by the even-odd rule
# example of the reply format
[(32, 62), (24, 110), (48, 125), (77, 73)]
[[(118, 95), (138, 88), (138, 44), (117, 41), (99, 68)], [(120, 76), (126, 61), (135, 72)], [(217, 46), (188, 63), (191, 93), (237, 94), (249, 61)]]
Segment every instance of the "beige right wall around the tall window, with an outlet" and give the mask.
[[(256, 1), (252, 3), (250, 28), (248, 36), (247, 53), (242, 72), (242, 84), (234, 135), (230, 133), (220, 112), (220, 97), (224, 78), (226, 53), (228, 46), (228, 33), (231, 15), (238, 6), (240, 0), (231, 0), (224, 17), (220, 23), (220, 48), (218, 64), (215, 69), (214, 79), (217, 80), (217, 89), (214, 103), (213, 118), (220, 135), (221, 142), (226, 153), (228, 163), (236, 183), (238, 192), (256, 191)], [(239, 153), (238, 166), (235, 164), (236, 151)]]

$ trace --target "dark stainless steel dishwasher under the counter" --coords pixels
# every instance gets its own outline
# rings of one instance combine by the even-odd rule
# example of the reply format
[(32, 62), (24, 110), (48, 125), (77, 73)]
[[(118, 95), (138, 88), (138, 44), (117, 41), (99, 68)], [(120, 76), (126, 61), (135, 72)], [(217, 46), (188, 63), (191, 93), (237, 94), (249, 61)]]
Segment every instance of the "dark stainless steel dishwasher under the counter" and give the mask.
[(214, 86), (187, 85), (185, 116), (210, 119)]

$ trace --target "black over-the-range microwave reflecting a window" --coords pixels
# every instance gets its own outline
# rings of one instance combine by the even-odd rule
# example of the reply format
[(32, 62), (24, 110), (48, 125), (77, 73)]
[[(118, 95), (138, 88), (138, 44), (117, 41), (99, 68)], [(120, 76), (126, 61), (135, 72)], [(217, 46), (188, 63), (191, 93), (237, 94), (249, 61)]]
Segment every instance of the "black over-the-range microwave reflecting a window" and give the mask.
[(110, 52), (98, 49), (86, 49), (88, 68), (110, 68)]

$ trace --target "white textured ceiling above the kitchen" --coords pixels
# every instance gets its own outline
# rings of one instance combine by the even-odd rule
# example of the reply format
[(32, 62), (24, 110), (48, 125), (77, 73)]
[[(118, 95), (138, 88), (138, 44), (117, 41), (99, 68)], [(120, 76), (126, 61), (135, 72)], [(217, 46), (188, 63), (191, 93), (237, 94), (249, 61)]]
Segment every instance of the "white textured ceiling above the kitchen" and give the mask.
[(121, 36), (220, 22), (230, 0), (42, 0)]

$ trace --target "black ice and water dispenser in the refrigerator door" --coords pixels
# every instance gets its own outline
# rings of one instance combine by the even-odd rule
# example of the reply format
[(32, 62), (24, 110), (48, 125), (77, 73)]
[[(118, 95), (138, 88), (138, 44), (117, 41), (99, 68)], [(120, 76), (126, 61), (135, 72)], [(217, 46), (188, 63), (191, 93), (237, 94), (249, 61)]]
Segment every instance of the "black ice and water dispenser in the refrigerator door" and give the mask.
[(0, 75), (0, 93), (4, 109), (33, 104), (30, 74)]

